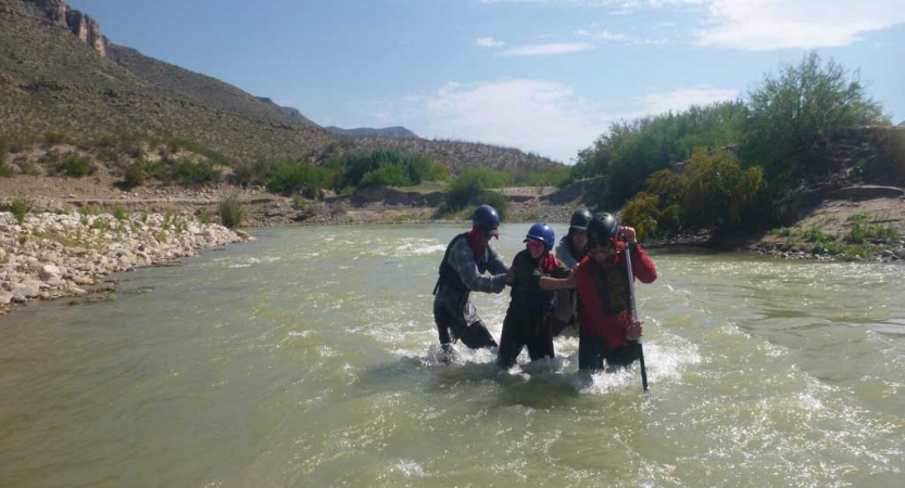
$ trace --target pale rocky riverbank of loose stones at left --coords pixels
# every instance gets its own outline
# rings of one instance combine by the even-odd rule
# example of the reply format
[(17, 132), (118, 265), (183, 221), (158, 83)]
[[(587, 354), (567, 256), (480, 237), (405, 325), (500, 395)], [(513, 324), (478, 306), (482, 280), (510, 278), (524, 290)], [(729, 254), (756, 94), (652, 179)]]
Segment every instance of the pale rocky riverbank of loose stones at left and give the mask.
[(253, 240), (191, 217), (0, 213), (0, 314), (16, 304), (112, 292), (103, 277)]

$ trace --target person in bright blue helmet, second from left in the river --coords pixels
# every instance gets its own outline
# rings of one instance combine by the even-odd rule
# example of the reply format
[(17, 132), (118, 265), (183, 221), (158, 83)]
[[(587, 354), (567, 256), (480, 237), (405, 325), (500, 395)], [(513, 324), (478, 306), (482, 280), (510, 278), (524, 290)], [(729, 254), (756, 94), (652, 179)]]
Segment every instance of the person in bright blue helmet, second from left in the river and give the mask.
[(531, 361), (554, 357), (549, 321), (556, 299), (554, 291), (575, 287), (569, 269), (550, 253), (555, 243), (556, 234), (550, 226), (535, 223), (525, 236), (526, 248), (512, 260), (506, 280), (512, 286), (512, 300), (497, 354), (502, 368), (512, 368), (525, 346)]

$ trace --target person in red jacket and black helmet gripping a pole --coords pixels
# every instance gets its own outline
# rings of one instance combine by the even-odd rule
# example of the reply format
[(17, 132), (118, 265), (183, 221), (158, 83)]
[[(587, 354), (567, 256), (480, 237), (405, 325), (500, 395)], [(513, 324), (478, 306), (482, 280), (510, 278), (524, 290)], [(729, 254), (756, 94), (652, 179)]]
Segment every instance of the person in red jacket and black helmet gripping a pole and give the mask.
[[(624, 237), (624, 239), (623, 239)], [(637, 242), (634, 229), (619, 227), (606, 213), (595, 214), (588, 224), (588, 255), (576, 271), (581, 300), (578, 332), (578, 368), (601, 370), (627, 367), (638, 359), (642, 322), (632, 317), (626, 246), (631, 268), (642, 283), (656, 280), (653, 261)]]

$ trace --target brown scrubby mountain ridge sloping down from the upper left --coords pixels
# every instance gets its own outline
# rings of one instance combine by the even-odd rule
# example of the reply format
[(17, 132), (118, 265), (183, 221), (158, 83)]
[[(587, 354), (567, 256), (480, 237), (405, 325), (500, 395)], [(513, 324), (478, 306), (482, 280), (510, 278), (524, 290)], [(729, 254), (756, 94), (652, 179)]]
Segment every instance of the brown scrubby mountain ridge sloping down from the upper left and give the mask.
[(515, 149), (419, 139), (404, 127), (328, 131), (296, 108), (114, 44), (62, 0), (0, 0), (0, 138), (38, 141), (48, 133), (75, 141), (180, 138), (235, 160), (315, 162), (341, 133), (355, 136), (362, 150), (428, 155), (453, 174), (560, 165)]

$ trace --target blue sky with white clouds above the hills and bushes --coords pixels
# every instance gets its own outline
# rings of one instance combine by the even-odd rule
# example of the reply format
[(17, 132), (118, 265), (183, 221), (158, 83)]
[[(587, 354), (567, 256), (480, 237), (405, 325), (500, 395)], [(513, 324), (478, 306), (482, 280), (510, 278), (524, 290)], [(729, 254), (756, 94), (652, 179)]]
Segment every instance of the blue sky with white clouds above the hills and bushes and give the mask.
[(574, 163), (810, 50), (905, 120), (905, 0), (68, 0), (112, 42), (301, 111)]

